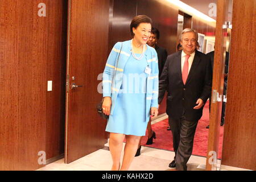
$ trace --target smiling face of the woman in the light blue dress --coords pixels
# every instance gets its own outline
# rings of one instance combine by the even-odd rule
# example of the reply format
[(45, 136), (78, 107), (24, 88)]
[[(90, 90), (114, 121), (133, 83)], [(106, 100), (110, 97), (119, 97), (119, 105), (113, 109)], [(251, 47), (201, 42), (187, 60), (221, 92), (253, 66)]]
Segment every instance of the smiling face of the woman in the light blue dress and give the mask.
[(151, 24), (140, 23), (137, 28), (133, 28), (134, 39), (139, 44), (146, 44), (151, 35)]

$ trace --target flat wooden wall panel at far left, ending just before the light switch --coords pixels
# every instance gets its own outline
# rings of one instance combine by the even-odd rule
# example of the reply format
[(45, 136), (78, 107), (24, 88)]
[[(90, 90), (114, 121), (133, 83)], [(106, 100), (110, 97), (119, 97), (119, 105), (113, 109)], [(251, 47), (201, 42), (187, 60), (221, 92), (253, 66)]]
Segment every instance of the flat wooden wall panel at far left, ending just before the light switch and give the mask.
[(38, 152), (45, 151), (47, 23), (38, 16), (41, 2), (0, 1), (2, 170), (39, 168)]

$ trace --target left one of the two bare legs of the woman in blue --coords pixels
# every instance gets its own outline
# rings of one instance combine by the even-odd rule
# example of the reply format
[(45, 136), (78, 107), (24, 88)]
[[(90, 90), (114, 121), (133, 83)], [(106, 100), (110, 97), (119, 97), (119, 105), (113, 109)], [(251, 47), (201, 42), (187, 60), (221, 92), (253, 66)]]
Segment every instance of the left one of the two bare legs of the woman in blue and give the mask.
[(112, 155), (113, 166), (112, 171), (119, 171), (120, 169), (120, 158), (123, 149), (124, 134), (110, 133), (109, 135), (109, 150)]

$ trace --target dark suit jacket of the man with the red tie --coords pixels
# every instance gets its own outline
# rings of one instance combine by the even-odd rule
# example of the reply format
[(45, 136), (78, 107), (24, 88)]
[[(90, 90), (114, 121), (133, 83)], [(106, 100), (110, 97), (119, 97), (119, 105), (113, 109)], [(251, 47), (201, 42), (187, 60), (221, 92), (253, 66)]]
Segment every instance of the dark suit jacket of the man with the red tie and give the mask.
[[(168, 87), (168, 88), (167, 88)], [(167, 95), (166, 113), (172, 119), (180, 119), (184, 114), (188, 121), (198, 121), (203, 114), (201, 109), (193, 109), (196, 101), (201, 98), (204, 103), (212, 89), (212, 70), (210, 59), (204, 53), (196, 51), (185, 85), (181, 75), (181, 51), (169, 55), (159, 79), (160, 104), (164, 93)]]

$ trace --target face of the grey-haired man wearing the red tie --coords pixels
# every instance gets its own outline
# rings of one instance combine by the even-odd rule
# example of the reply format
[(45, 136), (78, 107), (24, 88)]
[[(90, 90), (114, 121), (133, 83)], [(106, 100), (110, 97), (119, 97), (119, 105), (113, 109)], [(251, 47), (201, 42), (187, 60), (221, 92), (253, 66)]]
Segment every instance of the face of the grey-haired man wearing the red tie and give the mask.
[(190, 55), (193, 53), (196, 49), (196, 34), (194, 32), (186, 32), (183, 34), (182, 40), (180, 41), (180, 44), (183, 48), (183, 51)]

